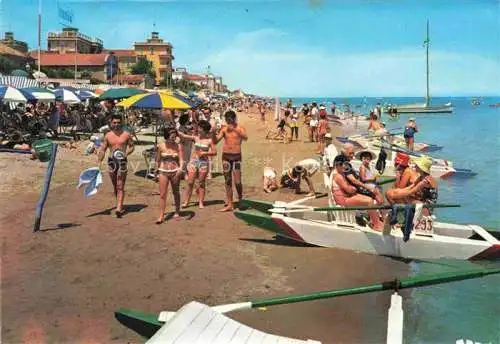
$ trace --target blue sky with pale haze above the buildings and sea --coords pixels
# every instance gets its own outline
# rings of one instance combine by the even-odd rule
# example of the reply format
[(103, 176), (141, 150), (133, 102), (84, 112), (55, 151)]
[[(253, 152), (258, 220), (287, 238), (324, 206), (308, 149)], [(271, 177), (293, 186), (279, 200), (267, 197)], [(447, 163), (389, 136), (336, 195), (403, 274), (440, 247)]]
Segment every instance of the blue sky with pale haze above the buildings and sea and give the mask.
[[(61, 31), (42, 1), (42, 49)], [(37, 47), (38, 0), (0, 0), (1, 30)], [(132, 49), (151, 31), (174, 67), (269, 96), (424, 96), (430, 21), (431, 96), (500, 95), (500, 0), (60, 0), (72, 25)]]

